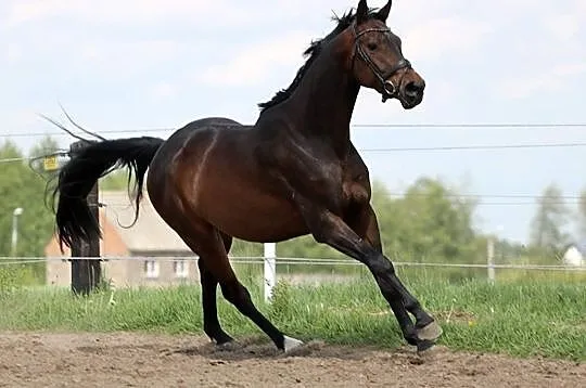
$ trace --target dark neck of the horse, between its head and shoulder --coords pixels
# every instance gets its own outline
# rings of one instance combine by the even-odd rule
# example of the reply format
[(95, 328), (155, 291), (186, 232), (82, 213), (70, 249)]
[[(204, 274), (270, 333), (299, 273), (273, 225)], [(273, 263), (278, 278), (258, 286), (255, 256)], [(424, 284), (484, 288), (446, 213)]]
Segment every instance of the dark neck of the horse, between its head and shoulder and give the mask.
[(359, 85), (326, 50), (288, 101), (295, 129), (330, 143), (337, 153), (351, 147), (349, 122)]

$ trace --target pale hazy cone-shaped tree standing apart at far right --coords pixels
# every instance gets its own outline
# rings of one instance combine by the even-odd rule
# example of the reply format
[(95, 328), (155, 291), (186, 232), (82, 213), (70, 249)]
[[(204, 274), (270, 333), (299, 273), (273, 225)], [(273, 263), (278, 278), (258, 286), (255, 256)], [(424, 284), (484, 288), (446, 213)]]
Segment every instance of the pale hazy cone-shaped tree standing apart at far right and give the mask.
[(563, 228), (569, 216), (561, 189), (555, 183), (549, 184), (537, 198), (537, 211), (531, 223), (531, 245), (544, 251), (560, 249), (568, 243), (568, 234), (563, 232)]

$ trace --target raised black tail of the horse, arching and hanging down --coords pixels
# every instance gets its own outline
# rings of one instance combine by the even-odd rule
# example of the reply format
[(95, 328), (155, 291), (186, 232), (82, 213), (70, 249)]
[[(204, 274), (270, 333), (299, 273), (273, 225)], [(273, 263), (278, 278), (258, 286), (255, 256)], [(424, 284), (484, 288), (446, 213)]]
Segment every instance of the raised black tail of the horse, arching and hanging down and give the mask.
[(129, 168), (128, 185), (135, 174), (136, 217), (142, 197), (144, 173), (156, 151), (165, 141), (158, 138), (131, 138), (104, 140), (90, 143), (72, 155), (72, 159), (63, 166), (58, 183), (53, 190), (53, 204), (59, 195), (55, 220), (60, 248), (81, 241), (100, 238), (99, 220), (93, 217), (86, 201), (98, 179), (115, 169)]

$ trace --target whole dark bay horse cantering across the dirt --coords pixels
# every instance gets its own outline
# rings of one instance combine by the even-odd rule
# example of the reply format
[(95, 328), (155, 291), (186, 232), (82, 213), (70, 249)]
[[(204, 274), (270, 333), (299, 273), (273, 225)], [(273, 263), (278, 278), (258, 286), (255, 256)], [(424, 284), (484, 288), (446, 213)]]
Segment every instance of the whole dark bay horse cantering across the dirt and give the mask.
[(369, 269), (409, 345), (418, 351), (433, 347), (442, 328), (383, 255), (369, 170), (349, 135), (360, 87), (378, 91), (383, 103), (398, 100), (404, 109), (423, 99), (425, 82), (386, 25), (391, 4), (371, 9), (360, 0), (356, 12), (335, 17), (335, 28), (304, 52), (306, 63), (289, 88), (259, 104), (254, 126), (207, 117), (167, 140), (101, 139), (72, 155), (52, 193), (53, 201), (59, 198), (62, 251), (63, 245), (101, 238), (86, 202), (99, 178), (128, 168), (138, 217), (149, 170), (153, 207), (199, 257), (203, 328), (217, 346), (233, 341), (218, 321), (218, 284), (278, 349), (288, 352), (303, 344), (257, 310), (228, 253), (233, 237), (268, 243), (311, 234)]

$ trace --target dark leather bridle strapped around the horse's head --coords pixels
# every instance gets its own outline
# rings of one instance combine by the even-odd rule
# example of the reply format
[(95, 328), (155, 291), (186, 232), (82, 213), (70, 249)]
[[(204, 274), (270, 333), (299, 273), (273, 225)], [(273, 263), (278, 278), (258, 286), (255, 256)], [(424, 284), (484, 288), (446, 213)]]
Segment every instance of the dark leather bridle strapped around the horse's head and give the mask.
[(411, 63), (409, 60), (402, 57), (400, 61), (397, 62), (391, 70), (387, 72), (386, 77), (382, 74), (379, 66), (372, 61), (372, 59), (362, 49), (362, 46), (358, 43), (359, 38), (367, 34), (367, 33), (391, 33), (391, 29), (388, 28), (367, 28), (362, 29), (361, 31), (356, 30), (356, 23), (353, 23), (353, 33), (354, 33), (354, 52), (352, 55), (352, 66), (354, 68), (354, 63), (356, 62), (356, 53), (360, 55), (362, 61), (367, 64), (367, 66), (370, 68), (372, 74), (374, 74), (374, 77), (379, 79), (379, 81), (382, 85), (382, 102), (385, 102), (388, 99), (398, 98), (398, 88), (388, 79), (391, 76), (393, 76), (395, 73), (400, 70), (402, 68), (411, 68)]

